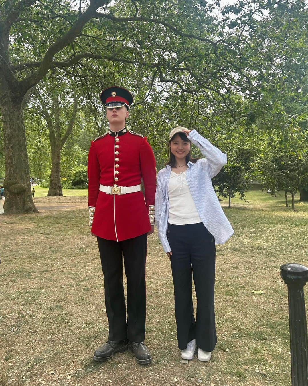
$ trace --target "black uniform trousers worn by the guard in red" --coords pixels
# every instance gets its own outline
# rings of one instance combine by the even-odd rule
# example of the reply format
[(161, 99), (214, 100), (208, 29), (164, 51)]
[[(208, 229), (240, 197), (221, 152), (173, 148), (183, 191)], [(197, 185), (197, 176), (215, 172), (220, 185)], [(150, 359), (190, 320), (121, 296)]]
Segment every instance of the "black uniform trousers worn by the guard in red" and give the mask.
[[(97, 237), (104, 274), (109, 340), (142, 342), (146, 334), (147, 234), (124, 241)], [(127, 321), (123, 287), (123, 258), (127, 278)]]

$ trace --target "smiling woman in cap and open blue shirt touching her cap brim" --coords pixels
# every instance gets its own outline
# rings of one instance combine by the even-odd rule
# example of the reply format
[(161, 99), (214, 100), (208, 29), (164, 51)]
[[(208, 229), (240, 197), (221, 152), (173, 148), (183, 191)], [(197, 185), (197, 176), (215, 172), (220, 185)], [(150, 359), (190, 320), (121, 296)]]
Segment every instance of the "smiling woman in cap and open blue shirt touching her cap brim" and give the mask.
[[(206, 158), (191, 157), (191, 142)], [(196, 130), (176, 127), (169, 135), (169, 161), (157, 175), (155, 215), (162, 247), (171, 261), (178, 347), (183, 359), (211, 358), (217, 338), (214, 315), (215, 243), (233, 234), (211, 178), (226, 154)], [(192, 304), (192, 274), (197, 315)]]

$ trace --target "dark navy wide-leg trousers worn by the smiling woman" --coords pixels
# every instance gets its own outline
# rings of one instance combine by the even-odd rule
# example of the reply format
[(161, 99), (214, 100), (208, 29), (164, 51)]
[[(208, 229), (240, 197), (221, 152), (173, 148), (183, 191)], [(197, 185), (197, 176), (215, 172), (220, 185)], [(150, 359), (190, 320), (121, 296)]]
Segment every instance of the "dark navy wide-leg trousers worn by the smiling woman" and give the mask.
[[(213, 351), (216, 342), (214, 283), (215, 240), (203, 223), (168, 224), (174, 286), (177, 341), (180, 350), (196, 339), (198, 347)], [(192, 303), (192, 273), (197, 296), (197, 314)]]

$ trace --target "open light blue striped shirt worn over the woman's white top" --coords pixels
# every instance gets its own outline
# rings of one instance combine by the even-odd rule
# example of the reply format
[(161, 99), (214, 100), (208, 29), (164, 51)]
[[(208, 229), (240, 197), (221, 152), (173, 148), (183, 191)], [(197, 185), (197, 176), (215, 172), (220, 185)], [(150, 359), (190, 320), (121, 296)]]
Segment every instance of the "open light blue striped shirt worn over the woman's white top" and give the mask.
[[(215, 243), (223, 244), (233, 235), (234, 231), (220, 206), (211, 179), (227, 163), (227, 156), (196, 130), (192, 130), (187, 138), (206, 156), (196, 163), (189, 161), (187, 164), (186, 177), (189, 190), (199, 217), (215, 237)], [(168, 184), (170, 173), (171, 167), (169, 165), (158, 172), (155, 196), (156, 226), (159, 240), (165, 252), (171, 251), (166, 235), (169, 216)]]

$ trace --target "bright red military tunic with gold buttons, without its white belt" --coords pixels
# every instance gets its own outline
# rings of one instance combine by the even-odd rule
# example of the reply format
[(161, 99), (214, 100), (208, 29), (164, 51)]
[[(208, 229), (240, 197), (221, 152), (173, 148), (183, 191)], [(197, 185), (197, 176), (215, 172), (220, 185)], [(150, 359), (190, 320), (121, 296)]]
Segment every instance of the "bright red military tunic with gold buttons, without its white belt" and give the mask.
[[(89, 209), (91, 232), (107, 240), (122, 241), (149, 232), (154, 223), (156, 163), (146, 137), (123, 129), (107, 132), (91, 142), (88, 157)], [(105, 186), (135, 186), (141, 191), (110, 195)], [(93, 208), (93, 209), (91, 209)], [(94, 209), (95, 208), (95, 209)]]

